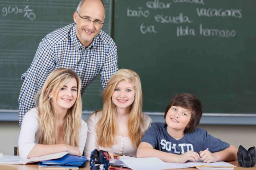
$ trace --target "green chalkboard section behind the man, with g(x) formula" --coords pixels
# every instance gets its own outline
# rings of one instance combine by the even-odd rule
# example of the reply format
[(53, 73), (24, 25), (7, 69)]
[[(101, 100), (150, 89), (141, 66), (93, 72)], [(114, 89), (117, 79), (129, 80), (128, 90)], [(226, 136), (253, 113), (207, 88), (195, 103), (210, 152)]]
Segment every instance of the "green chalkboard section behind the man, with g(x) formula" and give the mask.
[[(111, 32), (112, 2), (106, 8), (107, 34)], [(73, 23), (79, 0), (1, 0), (0, 1), (0, 112), (18, 110), (20, 76), (29, 68), (41, 39), (57, 28)], [(100, 79), (83, 95), (84, 110), (101, 108)]]

